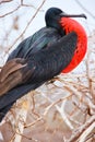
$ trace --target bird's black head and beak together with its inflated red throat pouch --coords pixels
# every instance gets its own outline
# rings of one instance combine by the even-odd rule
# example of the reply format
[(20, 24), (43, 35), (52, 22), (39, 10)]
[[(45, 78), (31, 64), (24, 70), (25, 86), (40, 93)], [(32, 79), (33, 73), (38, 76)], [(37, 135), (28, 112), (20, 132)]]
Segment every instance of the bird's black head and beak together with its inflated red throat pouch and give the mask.
[(69, 17), (84, 17), (85, 14), (67, 14), (62, 10), (58, 8), (50, 8), (47, 10), (45, 20), (47, 27), (57, 28), (58, 32), (63, 36), (71, 32), (74, 32), (78, 35), (76, 49), (74, 51), (74, 56), (69, 63), (69, 66), (62, 71), (63, 73), (68, 73), (72, 71), (78, 64), (83, 60), (86, 49), (87, 49), (87, 36), (83, 26), (76, 22), (75, 20)]

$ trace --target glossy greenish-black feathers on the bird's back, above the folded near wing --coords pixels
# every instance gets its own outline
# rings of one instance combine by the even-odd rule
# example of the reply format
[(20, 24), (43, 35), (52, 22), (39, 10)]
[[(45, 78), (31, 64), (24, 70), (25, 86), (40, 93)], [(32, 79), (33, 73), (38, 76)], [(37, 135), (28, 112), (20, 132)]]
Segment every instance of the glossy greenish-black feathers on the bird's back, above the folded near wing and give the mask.
[(60, 34), (55, 28), (43, 27), (33, 36), (24, 39), (9, 56), (8, 61), (14, 58), (27, 58), (29, 55), (47, 47), (60, 38)]

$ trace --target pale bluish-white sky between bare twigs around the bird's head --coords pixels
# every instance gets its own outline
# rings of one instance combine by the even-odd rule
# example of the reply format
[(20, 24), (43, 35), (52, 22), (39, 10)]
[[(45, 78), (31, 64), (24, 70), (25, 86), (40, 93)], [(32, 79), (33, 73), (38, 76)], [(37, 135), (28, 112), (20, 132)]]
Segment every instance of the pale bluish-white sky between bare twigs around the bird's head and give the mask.
[[(19, 4), (20, 0), (13, 0), (13, 2), (9, 2), (7, 4), (1, 4), (0, 5), (0, 15), (2, 15), (3, 13), (7, 13), (7, 11), (10, 11), (13, 8), (16, 8)], [(38, 8), (38, 5), (41, 3), (43, 0), (24, 0), (26, 1), (26, 3), (31, 3), (33, 5), (35, 5), (36, 8)], [(95, 15), (95, 0), (79, 0), (93, 15)], [(44, 7), (43, 7), (43, 12), (39, 12), (37, 14), (37, 16), (34, 19), (32, 25), (31, 25), (31, 29), (32, 32), (36, 32), (37, 29), (39, 29), (40, 27), (45, 26), (45, 12), (48, 8), (50, 7), (58, 7), (60, 9), (62, 9), (63, 11), (66, 11), (67, 13), (85, 13), (87, 15), (87, 20), (83, 20), (83, 19), (76, 19), (79, 20), (84, 26), (88, 26), (90, 29), (94, 29), (95, 28), (95, 20), (92, 19), (90, 16), (90, 14), (87, 14), (78, 3), (76, 0), (46, 0)], [(31, 17), (33, 15), (33, 13), (35, 12), (35, 10), (33, 9), (20, 9), (17, 12), (21, 15), (21, 20), (20, 20), (20, 27), (23, 29), (23, 27), (26, 25), (26, 22), (28, 21), (28, 17)], [(15, 15), (15, 13), (13, 14), (13, 16)], [(4, 25), (3, 22), (4, 21)], [(11, 17), (10, 16), (5, 16), (5, 20), (1, 19), (0, 20), (0, 26), (3, 27), (4, 29), (9, 28), (8, 26), (11, 25)], [(34, 26), (35, 25), (35, 26)], [(3, 28), (1, 28), (2, 33), (3, 33)], [(28, 33), (29, 31), (27, 31)], [(27, 35), (26, 33), (26, 35)], [(1, 36), (1, 35), (0, 35)]]

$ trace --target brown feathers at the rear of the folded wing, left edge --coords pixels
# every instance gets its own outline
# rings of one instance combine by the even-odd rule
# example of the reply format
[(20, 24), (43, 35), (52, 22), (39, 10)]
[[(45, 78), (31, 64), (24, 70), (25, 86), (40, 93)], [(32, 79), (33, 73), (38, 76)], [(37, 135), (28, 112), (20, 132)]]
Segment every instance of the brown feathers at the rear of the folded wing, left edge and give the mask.
[(16, 85), (23, 84), (34, 72), (35, 67), (31, 70), (23, 58), (15, 58), (5, 63), (0, 72), (0, 96), (5, 94)]

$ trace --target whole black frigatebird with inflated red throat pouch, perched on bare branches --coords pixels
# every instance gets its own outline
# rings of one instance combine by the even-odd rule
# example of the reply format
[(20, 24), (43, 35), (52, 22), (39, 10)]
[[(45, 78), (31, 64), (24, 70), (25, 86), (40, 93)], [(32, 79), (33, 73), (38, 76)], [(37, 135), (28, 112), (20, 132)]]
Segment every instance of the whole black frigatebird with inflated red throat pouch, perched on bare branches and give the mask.
[(70, 72), (83, 59), (87, 37), (84, 28), (58, 8), (45, 15), (46, 26), (23, 40), (0, 72), (0, 121), (13, 103), (60, 72)]

